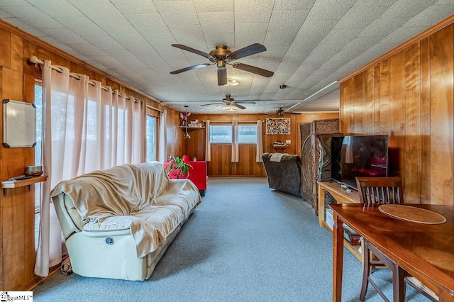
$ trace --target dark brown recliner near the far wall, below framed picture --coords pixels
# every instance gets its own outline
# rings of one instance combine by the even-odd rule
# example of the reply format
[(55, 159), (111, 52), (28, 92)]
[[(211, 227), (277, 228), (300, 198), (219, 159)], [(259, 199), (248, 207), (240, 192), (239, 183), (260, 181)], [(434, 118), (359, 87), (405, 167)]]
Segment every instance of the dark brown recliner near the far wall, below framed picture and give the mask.
[[(272, 161), (280, 160), (280, 162)], [(302, 196), (301, 158), (298, 155), (263, 153), (263, 165), (270, 188), (295, 196)]]

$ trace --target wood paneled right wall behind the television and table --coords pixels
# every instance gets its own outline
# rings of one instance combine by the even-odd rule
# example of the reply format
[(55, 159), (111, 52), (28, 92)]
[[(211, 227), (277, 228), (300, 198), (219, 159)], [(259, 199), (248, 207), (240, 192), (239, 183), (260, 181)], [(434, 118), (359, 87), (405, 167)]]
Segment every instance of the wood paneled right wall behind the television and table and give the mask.
[(454, 206), (450, 19), (450, 25), (341, 82), (341, 132), (389, 135), (390, 170), (403, 179), (406, 203)]

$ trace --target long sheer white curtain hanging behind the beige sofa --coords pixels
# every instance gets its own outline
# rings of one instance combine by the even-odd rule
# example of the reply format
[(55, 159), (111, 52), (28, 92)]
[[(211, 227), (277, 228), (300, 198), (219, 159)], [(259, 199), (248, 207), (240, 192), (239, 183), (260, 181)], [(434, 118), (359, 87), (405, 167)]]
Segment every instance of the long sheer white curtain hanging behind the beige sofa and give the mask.
[[(50, 191), (62, 180), (96, 169), (140, 162), (143, 139), (139, 129), (145, 125), (140, 104), (131, 97), (114, 96), (101, 82), (84, 74), (74, 79), (66, 67), (52, 70), (43, 64), (43, 142), (42, 164), (48, 180), (41, 184), (40, 231), (35, 274), (48, 276), (49, 267), (61, 262), (64, 251), (55, 208), (50, 206)], [(74, 74), (73, 74), (74, 76)], [(104, 91), (104, 89), (106, 91)], [(135, 131), (138, 133), (135, 134)]]

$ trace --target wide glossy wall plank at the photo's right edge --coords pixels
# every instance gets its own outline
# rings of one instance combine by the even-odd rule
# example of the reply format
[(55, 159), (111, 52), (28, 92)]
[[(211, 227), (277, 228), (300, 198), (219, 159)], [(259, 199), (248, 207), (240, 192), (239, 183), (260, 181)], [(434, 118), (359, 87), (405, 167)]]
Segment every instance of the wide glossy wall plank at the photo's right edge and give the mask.
[(453, 206), (453, 25), (430, 37), (431, 203)]

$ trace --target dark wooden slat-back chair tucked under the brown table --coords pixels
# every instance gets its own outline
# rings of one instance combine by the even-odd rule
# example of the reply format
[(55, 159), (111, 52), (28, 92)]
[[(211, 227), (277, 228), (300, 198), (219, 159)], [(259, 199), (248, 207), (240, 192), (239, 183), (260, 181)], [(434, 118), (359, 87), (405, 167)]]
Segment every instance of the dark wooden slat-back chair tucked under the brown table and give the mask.
[[(356, 184), (358, 185), (358, 195), (360, 196), (361, 203), (404, 203), (404, 192), (402, 190), (402, 179), (400, 177), (356, 177)], [(394, 301), (404, 301), (406, 284), (412, 286), (416, 291), (419, 291), (419, 293), (422, 293), (431, 301), (438, 301), (433, 292), (424, 289), (422, 286), (417, 286), (416, 282), (414, 282), (414, 277), (409, 276), (402, 267), (399, 267), (399, 265), (389, 259), (389, 257), (384, 255), (377, 247), (367, 240), (364, 240), (363, 249), (360, 301), (365, 300), (368, 284), (375, 288), (384, 301), (389, 301), (370, 278), (372, 269), (379, 266), (386, 266), (392, 272)], [(379, 261), (375, 261), (372, 255), (375, 255)]]

